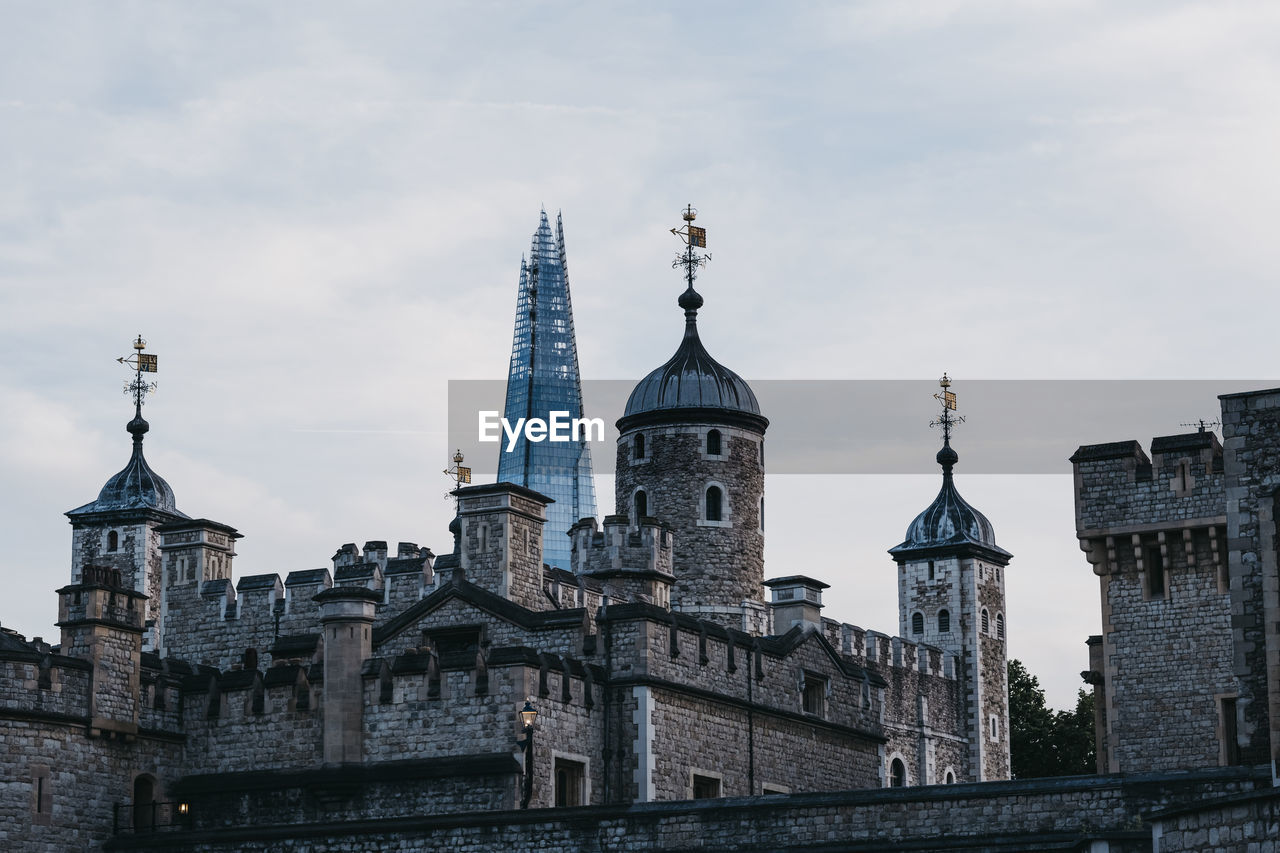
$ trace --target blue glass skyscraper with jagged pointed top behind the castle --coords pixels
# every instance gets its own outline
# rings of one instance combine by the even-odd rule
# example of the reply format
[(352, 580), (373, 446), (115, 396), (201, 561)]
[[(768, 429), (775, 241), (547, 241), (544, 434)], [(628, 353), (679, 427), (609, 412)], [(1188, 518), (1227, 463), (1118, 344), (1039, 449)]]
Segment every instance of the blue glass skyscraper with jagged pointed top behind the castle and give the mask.
[[(573, 305), (568, 297), (564, 223), (557, 214), (553, 236), (544, 210), (530, 256), (520, 261), (516, 336), (511, 346), (503, 416), (515, 424), (518, 418), (549, 420), (553, 411), (582, 418), (582, 383), (573, 337)], [(543, 561), (568, 569), (568, 529), (579, 519), (595, 515), (590, 444), (586, 441), (530, 442), (521, 432), (509, 451), (507, 442), (502, 442), (498, 479), (525, 485), (556, 501), (547, 507)]]

